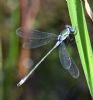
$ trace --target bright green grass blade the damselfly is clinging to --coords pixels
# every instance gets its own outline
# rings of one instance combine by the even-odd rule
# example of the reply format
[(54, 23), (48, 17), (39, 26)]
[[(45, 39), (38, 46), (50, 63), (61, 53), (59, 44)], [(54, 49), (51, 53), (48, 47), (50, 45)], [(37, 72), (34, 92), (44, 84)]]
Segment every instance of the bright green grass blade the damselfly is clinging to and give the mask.
[(81, 0), (67, 0), (72, 25), (76, 28), (75, 36), (87, 84), (93, 98), (93, 54)]

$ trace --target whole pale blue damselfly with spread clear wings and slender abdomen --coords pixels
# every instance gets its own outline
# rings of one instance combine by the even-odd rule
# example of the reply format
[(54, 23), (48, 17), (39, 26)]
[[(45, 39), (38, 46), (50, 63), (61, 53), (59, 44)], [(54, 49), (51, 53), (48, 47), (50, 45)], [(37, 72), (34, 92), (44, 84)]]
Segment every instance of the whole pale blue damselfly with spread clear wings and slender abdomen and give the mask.
[(17, 86), (22, 85), (41, 64), (41, 62), (43, 62), (45, 58), (58, 46), (60, 62), (64, 69), (66, 69), (73, 78), (78, 78), (79, 69), (70, 57), (64, 43), (64, 40), (69, 37), (70, 34), (74, 33), (75, 29), (69, 25), (66, 25), (66, 28), (58, 36), (53, 33), (40, 32), (38, 30), (32, 30), (31, 33), (25, 34), (22, 32), (21, 28), (18, 28), (16, 34), (26, 40), (23, 43), (24, 48), (37, 48), (48, 44), (51, 40), (56, 40), (57, 42), (53, 48), (36, 64), (36, 66), (17, 84)]

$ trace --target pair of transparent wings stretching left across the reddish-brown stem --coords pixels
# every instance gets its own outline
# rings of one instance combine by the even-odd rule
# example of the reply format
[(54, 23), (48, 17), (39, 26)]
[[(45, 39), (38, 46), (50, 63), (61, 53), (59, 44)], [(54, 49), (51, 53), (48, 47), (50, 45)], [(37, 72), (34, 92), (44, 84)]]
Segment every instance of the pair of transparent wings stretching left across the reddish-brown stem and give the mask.
[(57, 39), (56, 34), (40, 32), (38, 30), (32, 30), (30, 33), (24, 33), (21, 28), (19, 28), (16, 33), (18, 36), (25, 39), (25, 42), (23, 43), (24, 48), (38, 48)]

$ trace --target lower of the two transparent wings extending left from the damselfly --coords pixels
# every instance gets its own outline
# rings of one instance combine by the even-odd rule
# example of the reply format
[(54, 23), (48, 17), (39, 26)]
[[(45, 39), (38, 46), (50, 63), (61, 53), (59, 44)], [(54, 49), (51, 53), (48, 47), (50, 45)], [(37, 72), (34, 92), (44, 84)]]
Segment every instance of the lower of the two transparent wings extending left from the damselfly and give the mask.
[(23, 48), (38, 48), (40, 46), (48, 44), (52, 40), (55, 40), (55, 38), (32, 39), (32, 40), (28, 39), (23, 43)]

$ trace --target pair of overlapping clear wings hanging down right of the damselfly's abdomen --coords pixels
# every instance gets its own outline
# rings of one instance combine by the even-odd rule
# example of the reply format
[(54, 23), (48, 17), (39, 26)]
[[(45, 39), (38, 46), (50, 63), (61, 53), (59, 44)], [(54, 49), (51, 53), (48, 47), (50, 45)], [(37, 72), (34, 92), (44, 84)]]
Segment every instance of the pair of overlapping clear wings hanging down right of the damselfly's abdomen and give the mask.
[(68, 70), (70, 75), (73, 78), (78, 78), (79, 77), (79, 69), (76, 66), (73, 59), (70, 57), (64, 42), (61, 43), (60, 48), (59, 48), (59, 58), (60, 58), (61, 64), (63, 65), (63, 67), (65, 69)]

